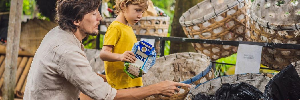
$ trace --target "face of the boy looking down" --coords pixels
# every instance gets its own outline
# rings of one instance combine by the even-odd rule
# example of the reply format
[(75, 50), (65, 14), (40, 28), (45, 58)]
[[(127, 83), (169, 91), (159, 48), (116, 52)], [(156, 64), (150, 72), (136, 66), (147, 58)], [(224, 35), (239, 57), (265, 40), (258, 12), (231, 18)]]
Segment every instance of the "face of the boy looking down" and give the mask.
[(127, 11), (124, 13), (125, 19), (129, 24), (134, 25), (142, 18), (145, 8), (140, 5), (128, 5)]

